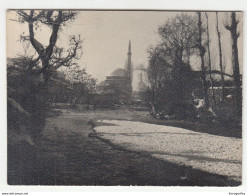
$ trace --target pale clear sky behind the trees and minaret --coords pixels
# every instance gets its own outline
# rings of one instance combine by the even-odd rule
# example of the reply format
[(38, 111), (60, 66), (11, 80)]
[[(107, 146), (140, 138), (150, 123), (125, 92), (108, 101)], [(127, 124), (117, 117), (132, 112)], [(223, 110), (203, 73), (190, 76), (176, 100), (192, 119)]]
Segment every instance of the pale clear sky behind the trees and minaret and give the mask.
[[(75, 21), (59, 32), (58, 45), (66, 46), (70, 35), (80, 35), (83, 40), (83, 54), (78, 64), (80, 67), (86, 68), (88, 73), (100, 82), (105, 80), (106, 76), (114, 69), (125, 67), (128, 43), (131, 40), (132, 64), (134, 66), (133, 89), (138, 90), (139, 72), (135, 69), (141, 64), (147, 66), (147, 49), (160, 41), (158, 27), (164, 25), (168, 18), (174, 17), (176, 14), (179, 13), (168, 11), (79, 11)], [(215, 13), (208, 13), (208, 15), (210, 37), (214, 43), (210, 45), (212, 64), (214, 69), (219, 69)], [(11, 18), (15, 18), (15, 15), (8, 12), (8, 19)], [(219, 13), (223, 63), (226, 72), (232, 73), (231, 39), (230, 33), (223, 26), (225, 18), (225, 13)], [(7, 57), (32, 52), (30, 49), (25, 50), (23, 43), (18, 41), (20, 34), (27, 35), (27, 24), (8, 20)], [(48, 44), (49, 35), (50, 30), (44, 27), (36, 31), (37, 40), (45, 45)], [(240, 65), (242, 65), (241, 42), (242, 33), (239, 39)], [(193, 59), (191, 63), (194, 69), (200, 69), (198, 59)]]

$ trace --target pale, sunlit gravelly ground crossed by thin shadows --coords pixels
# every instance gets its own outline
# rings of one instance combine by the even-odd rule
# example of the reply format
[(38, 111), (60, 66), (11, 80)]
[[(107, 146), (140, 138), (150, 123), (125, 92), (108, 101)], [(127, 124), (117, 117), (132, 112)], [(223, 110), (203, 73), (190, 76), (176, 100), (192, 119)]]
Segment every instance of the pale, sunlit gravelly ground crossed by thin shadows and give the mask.
[(116, 145), (241, 181), (242, 139), (138, 121), (101, 122), (111, 126), (96, 132)]

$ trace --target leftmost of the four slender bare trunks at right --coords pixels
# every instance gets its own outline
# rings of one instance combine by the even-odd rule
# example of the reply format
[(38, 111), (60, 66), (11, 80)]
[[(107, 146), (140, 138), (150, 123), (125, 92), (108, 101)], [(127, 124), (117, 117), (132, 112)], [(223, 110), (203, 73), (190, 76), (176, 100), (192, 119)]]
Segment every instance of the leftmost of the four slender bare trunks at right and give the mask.
[(201, 57), (201, 69), (202, 69), (201, 78), (202, 78), (202, 83), (203, 83), (203, 95), (204, 95), (204, 100), (205, 100), (205, 107), (206, 107), (206, 109), (208, 109), (209, 108), (209, 100), (208, 100), (208, 87), (207, 87), (205, 65), (204, 65), (205, 48), (202, 46), (201, 12), (198, 12), (198, 29), (199, 29), (198, 46), (199, 46), (200, 57)]

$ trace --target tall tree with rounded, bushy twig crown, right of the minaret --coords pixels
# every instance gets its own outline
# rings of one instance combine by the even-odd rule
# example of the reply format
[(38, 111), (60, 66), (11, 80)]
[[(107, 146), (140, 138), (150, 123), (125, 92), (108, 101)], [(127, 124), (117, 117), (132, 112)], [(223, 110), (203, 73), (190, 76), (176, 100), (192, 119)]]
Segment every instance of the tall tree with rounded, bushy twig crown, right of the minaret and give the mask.
[(193, 101), (193, 83), (191, 83), (193, 76), (188, 64), (188, 55), (192, 54), (197, 47), (198, 26), (196, 17), (184, 13), (176, 15), (161, 26), (158, 32), (162, 38), (161, 45), (166, 51), (166, 61), (172, 67), (172, 79), (170, 80), (172, 87), (169, 89), (173, 94), (170, 98), (172, 114), (186, 117), (187, 107)]

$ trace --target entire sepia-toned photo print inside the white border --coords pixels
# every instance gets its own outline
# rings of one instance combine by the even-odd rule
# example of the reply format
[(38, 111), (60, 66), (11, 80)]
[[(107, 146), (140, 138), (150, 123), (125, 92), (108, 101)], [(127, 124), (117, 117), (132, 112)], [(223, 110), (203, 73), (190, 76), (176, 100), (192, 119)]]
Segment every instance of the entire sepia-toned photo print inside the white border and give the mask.
[(6, 14), (9, 185), (242, 184), (242, 12)]

